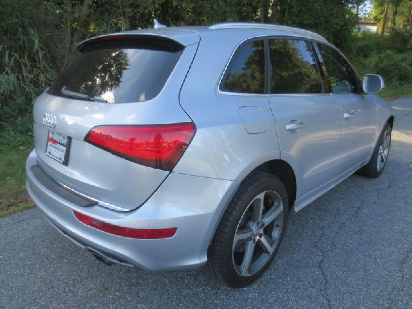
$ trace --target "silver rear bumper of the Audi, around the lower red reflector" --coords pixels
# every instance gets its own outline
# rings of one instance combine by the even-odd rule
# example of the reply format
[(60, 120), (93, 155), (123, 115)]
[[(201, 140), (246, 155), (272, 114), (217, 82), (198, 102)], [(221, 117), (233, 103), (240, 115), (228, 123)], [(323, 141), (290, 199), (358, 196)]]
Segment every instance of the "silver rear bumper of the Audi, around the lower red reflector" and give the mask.
[[(119, 212), (100, 205), (78, 206), (49, 190), (35, 177), (33, 151), (26, 163), (27, 190), (56, 229), (108, 260), (146, 270), (194, 268), (206, 262), (208, 244), (220, 216), (239, 183), (171, 173), (149, 200), (135, 211)], [(132, 228), (177, 227), (167, 239), (130, 239), (78, 221), (73, 210), (114, 225)]]

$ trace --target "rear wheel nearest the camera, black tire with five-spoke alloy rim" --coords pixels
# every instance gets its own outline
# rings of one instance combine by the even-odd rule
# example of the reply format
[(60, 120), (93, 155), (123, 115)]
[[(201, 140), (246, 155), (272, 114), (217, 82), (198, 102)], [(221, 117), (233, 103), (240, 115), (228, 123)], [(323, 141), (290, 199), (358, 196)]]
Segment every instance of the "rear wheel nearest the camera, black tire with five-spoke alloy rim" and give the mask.
[(279, 248), (288, 218), (288, 194), (279, 179), (257, 173), (227, 207), (208, 251), (208, 269), (233, 288), (258, 279)]

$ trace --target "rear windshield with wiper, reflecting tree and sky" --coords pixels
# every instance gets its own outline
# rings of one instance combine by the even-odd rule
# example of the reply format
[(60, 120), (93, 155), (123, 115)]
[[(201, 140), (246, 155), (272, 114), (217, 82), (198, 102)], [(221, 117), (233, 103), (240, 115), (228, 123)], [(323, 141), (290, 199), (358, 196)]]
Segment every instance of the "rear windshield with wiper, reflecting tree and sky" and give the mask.
[(49, 88), (49, 94), (130, 103), (155, 98), (183, 50), (110, 48), (80, 54)]

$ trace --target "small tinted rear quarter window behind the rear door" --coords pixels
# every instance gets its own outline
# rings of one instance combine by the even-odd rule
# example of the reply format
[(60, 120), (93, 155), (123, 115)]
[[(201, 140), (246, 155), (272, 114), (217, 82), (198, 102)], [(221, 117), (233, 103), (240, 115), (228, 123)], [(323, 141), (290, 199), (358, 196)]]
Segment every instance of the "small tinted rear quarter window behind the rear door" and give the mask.
[(229, 66), (220, 89), (223, 91), (263, 94), (265, 92), (265, 49), (263, 41), (241, 47)]

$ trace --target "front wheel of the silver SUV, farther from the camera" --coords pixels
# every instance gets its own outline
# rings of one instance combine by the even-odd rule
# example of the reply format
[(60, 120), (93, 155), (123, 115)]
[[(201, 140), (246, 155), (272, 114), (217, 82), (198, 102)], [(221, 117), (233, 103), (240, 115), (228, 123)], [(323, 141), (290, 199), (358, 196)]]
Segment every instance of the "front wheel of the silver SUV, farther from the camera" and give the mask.
[(391, 148), (392, 127), (389, 123), (385, 124), (375, 150), (368, 164), (358, 170), (358, 173), (366, 177), (378, 177), (382, 174), (386, 161), (388, 160)]

